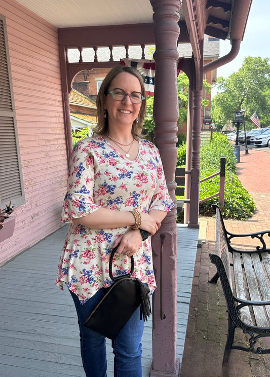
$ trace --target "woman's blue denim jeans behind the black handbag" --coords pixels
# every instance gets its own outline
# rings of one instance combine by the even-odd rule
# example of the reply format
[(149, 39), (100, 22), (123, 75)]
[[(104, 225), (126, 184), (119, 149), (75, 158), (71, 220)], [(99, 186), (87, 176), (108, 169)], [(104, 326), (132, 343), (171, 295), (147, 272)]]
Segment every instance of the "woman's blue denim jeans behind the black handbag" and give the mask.
[[(106, 293), (101, 288), (84, 305), (71, 292), (78, 314), (81, 337), (81, 355), (86, 377), (107, 377), (106, 338), (84, 326), (86, 319)], [(140, 309), (132, 315), (119, 335), (111, 341), (114, 354), (114, 377), (141, 377), (141, 337), (144, 321), (140, 320)]]

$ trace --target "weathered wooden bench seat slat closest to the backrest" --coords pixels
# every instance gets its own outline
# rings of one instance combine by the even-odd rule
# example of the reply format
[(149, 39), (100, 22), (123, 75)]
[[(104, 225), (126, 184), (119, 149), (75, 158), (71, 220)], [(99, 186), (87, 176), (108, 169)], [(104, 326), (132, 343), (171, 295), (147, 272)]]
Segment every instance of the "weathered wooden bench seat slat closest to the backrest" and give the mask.
[[(241, 262), (241, 257), (239, 253), (233, 253), (233, 261), (234, 261), (236, 294), (238, 298), (242, 298), (246, 300), (247, 296), (246, 296), (246, 289), (245, 289), (245, 283), (244, 283), (244, 277), (243, 277), (242, 262)], [(241, 308), (241, 319), (243, 322), (249, 325), (253, 325), (249, 307)]]

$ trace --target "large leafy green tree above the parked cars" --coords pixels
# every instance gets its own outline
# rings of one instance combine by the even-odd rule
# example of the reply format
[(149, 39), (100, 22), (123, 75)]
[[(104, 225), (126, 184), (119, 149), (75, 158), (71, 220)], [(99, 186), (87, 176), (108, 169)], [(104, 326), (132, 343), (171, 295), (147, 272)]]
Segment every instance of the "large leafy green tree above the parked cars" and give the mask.
[(261, 57), (245, 58), (242, 67), (228, 78), (217, 79), (217, 95), (212, 100), (211, 115), (216, 126), (223, 127), (233, 120), (234, 111), (246, 110), (247, 129), (254, 128), (250, 117), (256, 111), (261, 126), (270, 123), (270, 65), (269, 59)]

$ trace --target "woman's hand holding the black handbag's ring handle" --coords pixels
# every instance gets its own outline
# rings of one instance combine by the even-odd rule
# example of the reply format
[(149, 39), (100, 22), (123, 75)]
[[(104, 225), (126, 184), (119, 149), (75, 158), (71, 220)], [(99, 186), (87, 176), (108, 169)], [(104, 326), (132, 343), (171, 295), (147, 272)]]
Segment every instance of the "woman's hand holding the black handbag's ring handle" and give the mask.
[(142, 237), (140, 231), (137, 229), (122, 234), (122, 236), (114, 241), (112, 247), (114, 248), (120, 245), (116, 251), (117, 253), (132, 256), (137, 252), (141, 243)]

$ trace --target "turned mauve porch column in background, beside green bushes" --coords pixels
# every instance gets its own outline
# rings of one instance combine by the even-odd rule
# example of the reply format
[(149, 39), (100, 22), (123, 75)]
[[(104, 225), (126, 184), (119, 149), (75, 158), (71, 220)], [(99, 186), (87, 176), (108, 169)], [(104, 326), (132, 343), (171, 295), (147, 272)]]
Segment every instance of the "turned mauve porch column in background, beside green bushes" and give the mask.
[(192, 117), (192, 155), (191, 155), (191, 186), (189, 227), (199, 228), (199, 194), (200, 194), (200, 147), (202, 128), (202, 94), (201, 89), (193, 91), (193, 117)]

